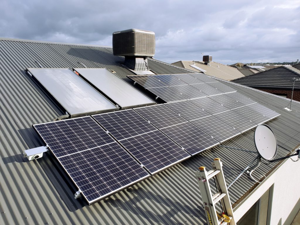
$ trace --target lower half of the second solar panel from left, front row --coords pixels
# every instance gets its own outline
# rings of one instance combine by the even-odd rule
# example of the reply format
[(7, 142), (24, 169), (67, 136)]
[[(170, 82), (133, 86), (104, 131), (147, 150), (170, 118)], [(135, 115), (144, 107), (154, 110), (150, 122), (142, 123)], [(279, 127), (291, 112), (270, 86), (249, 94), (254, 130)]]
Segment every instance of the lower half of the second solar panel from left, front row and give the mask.
[(158, 173), (190, 157), (161, 131), (121, 140), (120, 143), (151, 173)]

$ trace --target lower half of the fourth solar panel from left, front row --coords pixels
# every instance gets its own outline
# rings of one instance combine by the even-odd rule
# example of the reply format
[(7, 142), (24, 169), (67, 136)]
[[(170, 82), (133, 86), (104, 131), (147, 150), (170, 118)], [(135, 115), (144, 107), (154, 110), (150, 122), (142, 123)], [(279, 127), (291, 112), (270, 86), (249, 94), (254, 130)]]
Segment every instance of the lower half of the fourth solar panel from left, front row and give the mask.
[(241, 134), (238, 130), (235, 130), (214, 116), (196, 119), (191, 123), (199, 127), (205, 133), (211, 135), (211, 137), (219, 142), (224, 142), (238, 134)]

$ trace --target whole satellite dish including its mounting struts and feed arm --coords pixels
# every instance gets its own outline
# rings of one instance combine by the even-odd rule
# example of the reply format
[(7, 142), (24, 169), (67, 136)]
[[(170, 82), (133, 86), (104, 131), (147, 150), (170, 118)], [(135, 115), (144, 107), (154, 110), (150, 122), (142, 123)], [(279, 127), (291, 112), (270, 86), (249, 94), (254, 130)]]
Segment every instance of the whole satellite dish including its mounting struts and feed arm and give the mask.
[[(256, 147), (256, 152), (246, 150), (246, 149), (238, 149), (238, 148), (235, 148), (235, 147), (220, 145), (220, 147), (227, 148), (227, 149), (235, 149), (235, 150), (239, 150), (239, 151), (244, 151), (244, 152), (249, 152), (249, 153), (254, 153), (254, 154), (256, 153), (257, 154), (256, 157), (250, 162), (250, 164), (233, 180), (233, 182), (231, 184), (228, 185), (227, 189), (237, 179), (239, 179), (240, 176), (242, 176), (243, 173), (245, 173), (245, 172), (249, 175), (249, 177), (253, 181), (258, 182), (257, 180), (255, 180), (253, 178), (252, 173), (257, 167), (259, 167), (259, 165), (262, 162), (262, 159), (265, 160), (265, 161), (268, 161), (269, 163), (274, 163), (274, 162), (278, 162), (280, 160), (290, 158), (290, 157), (296, 156), (296, 155), (298, 155), (298, 159), (296, 161), (298, 161), (299, 158), (300, 158), (300, 149), (297, 149), (296, 152), (292, 155), (288, 155), (288, 156), (285, 156), (285, 157), (274, 159), (276, 154), (277, 154), (277, 146), (280, 146), (280, 145), (277, 144), (277, 140), (276, 140), (274, 132), (266, 124), (260, 124), (256, 127), (255, 132), (254, 132), (254, 144), (255, 144), (255, 147)], [(283, 148), (282, 146), (280, 146), (280, 147)], [(283, 149), (285, 149), (285, 148), (283, 148)], [(287, 150), (287, 149), (285, 149), (285, 150)], [(255, 161), (256, 161), (256, 164), (251, 167), (251, 165)]]

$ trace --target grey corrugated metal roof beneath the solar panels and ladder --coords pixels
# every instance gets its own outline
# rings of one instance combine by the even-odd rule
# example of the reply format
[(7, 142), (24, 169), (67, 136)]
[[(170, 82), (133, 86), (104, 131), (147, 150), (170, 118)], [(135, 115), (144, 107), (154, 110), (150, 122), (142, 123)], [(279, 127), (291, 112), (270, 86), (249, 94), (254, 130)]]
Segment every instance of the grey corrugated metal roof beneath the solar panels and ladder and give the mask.
[[(27, 161), (25, 149), (44, 145), (32, 124), (49, 122), (63, 115), (60, 108), (25, 73), (26, 67), (106, 67), (122, 78), (134, 75), (122, 67), (124, 58), (113, 56), (108, 47), (55, 44), (21, 40), (0, 40), (0, 224), (205, 224), (205, 214), (194, 172), (199, 166), (211, 168), (223, 161), (227, 184), (243, 170), (253, 156), (215, 147), (184, 161), (150, 179), (88, 206), (55, 157)], [(178, 67), (149, 60), (158, 74), (184, 73)], [(253, 100), (281, 113), (268, 122), (280, 143), (294, 149), (299, 143), (300, 103), (293, 111), (283, 110), (288, 100), (268, 93), (224, 82)], [(250, 130), (225, 144), (255, 150)], [(278, 157), (288, 152), (279, 148)], [(253, 175), (260, 179), (274, 167), (261, 165)], [(255, 182), (246, 175), (229, 189), (232, 203), (238, 201)]]

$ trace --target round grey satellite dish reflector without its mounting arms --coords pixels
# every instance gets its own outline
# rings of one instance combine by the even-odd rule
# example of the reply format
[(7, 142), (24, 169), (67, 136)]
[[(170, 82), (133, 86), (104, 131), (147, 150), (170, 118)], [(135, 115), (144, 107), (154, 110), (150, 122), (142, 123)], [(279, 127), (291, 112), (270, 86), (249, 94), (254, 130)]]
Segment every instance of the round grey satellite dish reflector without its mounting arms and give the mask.
[(272, 160), (277, 153), (277, 140), (268, 125), (260, 124), (254, 132), (254, 143), (258, 154), (266, 159)]

